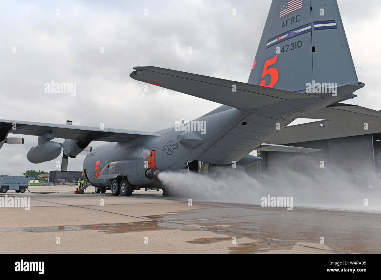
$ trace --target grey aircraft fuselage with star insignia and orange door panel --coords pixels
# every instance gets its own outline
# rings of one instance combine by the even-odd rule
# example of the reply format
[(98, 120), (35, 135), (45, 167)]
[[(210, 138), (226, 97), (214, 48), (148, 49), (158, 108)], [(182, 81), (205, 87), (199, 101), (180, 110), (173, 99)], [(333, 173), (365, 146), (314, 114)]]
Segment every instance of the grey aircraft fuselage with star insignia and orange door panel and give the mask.
[[(153, 182), (145, 176), (147, 168), (182, 170), (188, 161), (193, 160), (232, 164), (255, 150), (298, 115), (339, 102), (358, 88), (354, 85), (341, 86), (336, 97), (284, 100), (256, 110), (221, 106), (220, 110), (216, 109), (183, 126), (158, 131), (161, 136), (141, 136), (127, 143), (99, 146), (86, 156), (83, 169), (95, 186), (109, 186), (113, 178), (108, 177), (112, 174), (126, 176), (131, 185), (140, 186)], [(146, 151), (152, 155), (147, 156)]]

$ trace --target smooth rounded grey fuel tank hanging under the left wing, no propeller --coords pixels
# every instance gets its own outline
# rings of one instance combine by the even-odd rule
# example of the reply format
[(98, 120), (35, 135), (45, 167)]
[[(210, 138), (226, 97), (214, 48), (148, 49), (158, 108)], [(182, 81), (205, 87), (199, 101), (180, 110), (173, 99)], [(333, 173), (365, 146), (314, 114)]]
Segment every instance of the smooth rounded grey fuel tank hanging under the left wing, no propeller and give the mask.
[(61, 144), (48, 141), (30, 149), (26, 157), (32, 163), (41, 163), (51, 161), (59, 154), (61, 154)]

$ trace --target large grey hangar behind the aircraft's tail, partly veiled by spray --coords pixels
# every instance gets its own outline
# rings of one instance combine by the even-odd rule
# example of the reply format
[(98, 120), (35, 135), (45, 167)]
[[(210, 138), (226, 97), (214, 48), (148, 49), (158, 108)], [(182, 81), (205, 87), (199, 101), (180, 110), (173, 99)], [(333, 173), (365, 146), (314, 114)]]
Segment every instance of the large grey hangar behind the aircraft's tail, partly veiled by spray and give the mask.
[(263, 157), (256, 167), (258, 172), (271, 173), (285, 166), (297, 172), (304, 172), (311, 164), (320, 167), (323, 161), (324, 168), (338, 168), (346, 174), (362, 176), (368, 172), (376, 172), (381, 175), (379, 122), (325, 120), (288, 126), (266, 140), (266, 143), (317, 148), (322, 151), (258, 151), (258, 155)]

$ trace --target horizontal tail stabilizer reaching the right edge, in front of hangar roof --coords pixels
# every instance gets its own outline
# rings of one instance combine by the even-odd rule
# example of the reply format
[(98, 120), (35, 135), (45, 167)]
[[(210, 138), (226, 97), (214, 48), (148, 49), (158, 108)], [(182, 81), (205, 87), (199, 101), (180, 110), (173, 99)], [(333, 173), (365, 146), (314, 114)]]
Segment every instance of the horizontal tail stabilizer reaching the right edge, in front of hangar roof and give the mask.
[(376, 111), (357, 105), (336, 103), (300, 117), (311, 119), (328, 119), (333, 121), (381, 122), (381, 111)]

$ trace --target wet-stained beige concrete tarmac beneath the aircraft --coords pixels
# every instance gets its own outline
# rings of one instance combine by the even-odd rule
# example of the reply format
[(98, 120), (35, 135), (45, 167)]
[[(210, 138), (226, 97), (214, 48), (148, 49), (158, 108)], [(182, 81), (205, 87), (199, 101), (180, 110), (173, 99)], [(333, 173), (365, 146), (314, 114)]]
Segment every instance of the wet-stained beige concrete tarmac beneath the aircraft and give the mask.
[[(0, 208), (0, 253), (381, 253), (380, 213), (131, 197), (29, 187), (30, 210)], [(324, 243), (321, 243), (321, 237)]]

